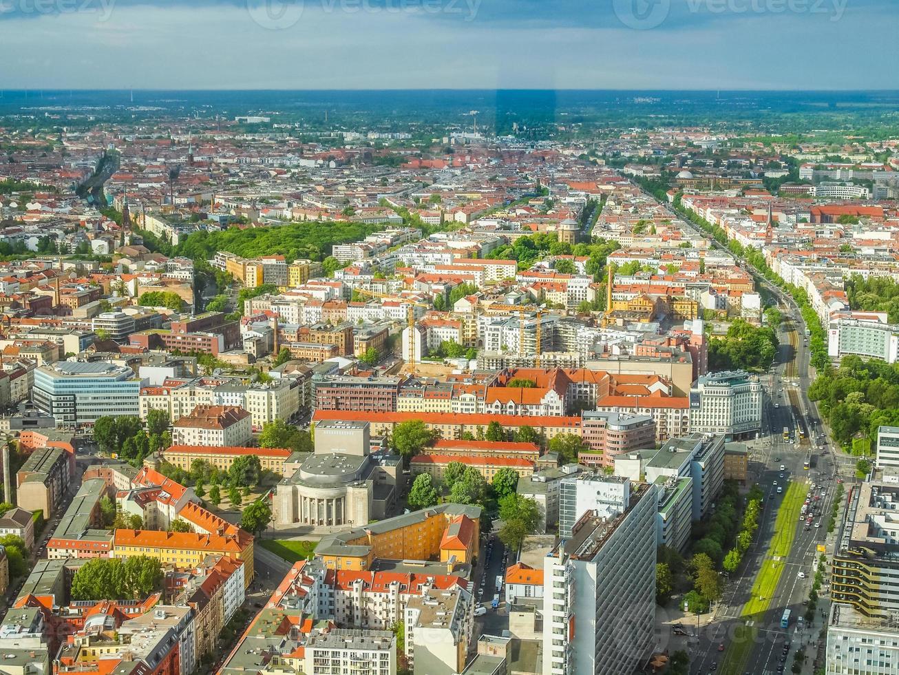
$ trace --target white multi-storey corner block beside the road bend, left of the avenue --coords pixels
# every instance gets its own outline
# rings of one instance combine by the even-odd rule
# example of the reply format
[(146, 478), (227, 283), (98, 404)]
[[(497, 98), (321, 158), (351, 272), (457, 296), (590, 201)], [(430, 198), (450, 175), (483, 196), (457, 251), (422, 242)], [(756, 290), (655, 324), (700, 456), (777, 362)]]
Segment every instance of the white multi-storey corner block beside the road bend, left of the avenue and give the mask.
[(725, 440), (761, 430), (762, 387), (743, 371), (712, 373), (690, 387), (690, 431), (724, 434)]

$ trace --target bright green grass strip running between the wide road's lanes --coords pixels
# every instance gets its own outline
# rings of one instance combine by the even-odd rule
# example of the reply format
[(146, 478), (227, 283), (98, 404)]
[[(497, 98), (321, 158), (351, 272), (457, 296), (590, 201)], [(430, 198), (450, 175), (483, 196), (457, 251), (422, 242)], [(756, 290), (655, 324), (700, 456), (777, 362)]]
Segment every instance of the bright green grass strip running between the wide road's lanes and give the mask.
[(796, 539), (797, 523), (802, 504), (806, 500), (806, 483), (789, 482), (784, 499), (780, 502), (778, 518), (774, 521), (774, 537), (761, 563), (761, 569), (752, 584), (752, 595), (740, 613), (742, 625), (734, 631), (734, 639), (725, 653), (721, 666), (722, 675), (739, 675), (747, 671), (752, 647), (757, 644), (759, 625), (770, 609), (778, 590), (787, 556)]

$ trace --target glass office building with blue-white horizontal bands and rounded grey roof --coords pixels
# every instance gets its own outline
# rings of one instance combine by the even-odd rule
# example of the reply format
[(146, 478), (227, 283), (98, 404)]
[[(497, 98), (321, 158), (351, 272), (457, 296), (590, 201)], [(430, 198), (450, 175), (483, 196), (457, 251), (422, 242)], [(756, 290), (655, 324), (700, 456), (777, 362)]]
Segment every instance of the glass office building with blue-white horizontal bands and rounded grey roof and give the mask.
[(124, 365), (62, 361), (34, 371), (34, 404), (59, 424), (91, 425), (104, 415), (138, 416), (145, 381)]

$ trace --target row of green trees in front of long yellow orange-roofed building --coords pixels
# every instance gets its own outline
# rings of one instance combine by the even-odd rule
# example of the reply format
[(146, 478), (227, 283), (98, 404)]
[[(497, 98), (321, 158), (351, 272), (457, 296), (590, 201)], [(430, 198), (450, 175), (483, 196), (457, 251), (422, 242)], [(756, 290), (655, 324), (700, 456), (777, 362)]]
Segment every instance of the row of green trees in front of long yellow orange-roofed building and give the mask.
[(156, 558), (91, 558), (72, 579), (73, 600), (139, 600), (162, 590), (163, 571)]

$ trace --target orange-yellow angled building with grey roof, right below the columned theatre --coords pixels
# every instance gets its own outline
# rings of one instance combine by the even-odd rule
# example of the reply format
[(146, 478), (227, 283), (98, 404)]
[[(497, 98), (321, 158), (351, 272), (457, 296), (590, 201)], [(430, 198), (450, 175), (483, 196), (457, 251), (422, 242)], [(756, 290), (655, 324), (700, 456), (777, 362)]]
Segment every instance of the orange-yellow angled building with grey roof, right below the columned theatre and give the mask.
[(440, 504), (325, 536), (316, 558), (332, 570), (369, 570), (376, 559), (470, 563), (478, 554), (481, 509)]

